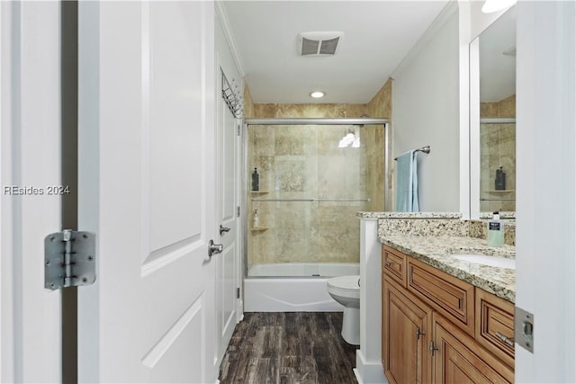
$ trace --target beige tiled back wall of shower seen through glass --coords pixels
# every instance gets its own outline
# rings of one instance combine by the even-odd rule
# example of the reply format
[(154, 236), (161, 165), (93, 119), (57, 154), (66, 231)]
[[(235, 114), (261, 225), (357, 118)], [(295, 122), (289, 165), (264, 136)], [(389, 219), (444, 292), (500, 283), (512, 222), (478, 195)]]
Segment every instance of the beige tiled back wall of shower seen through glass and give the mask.
[[(290, 201), (366, 198), (365, 147), (338, 148), (347, 129), (334, 126), (250, 126), (248, 165), (257, 167), (261, 192), (250, 192), (250, 263), (358, 261), (365, 202)], [(289, 201), (257, 201), (278, 199)]]

